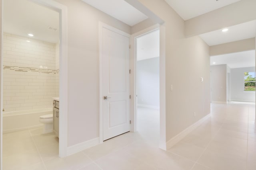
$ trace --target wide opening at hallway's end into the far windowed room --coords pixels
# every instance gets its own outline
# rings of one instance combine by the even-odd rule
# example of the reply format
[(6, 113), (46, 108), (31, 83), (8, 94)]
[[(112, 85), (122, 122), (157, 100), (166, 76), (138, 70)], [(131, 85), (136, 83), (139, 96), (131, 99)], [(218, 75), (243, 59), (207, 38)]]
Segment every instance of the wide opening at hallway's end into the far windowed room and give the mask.
[(211, 101), (255, 104), (255, 50), (210, 58)]

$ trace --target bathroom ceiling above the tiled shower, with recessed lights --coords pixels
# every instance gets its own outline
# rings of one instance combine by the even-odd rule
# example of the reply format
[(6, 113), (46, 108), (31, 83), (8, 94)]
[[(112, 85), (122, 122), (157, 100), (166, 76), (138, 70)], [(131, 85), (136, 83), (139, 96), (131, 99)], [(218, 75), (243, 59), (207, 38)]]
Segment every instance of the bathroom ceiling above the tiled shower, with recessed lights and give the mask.
[[(59, 41), (59, 13), (29, 0), (4, 0), (4, 32), (57, 43)], [(48, 27), (57, 28), (56, 31)], [(34, 37), (29, 37), (32, 33)]]

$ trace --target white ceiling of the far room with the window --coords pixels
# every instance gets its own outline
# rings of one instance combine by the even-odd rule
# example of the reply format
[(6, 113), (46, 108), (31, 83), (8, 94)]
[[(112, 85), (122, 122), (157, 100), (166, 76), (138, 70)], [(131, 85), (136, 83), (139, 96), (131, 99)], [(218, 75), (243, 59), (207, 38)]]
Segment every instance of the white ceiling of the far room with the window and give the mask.
[(255, 66), (255, 50), (210, 57), (210, 65), (220, 64), (228, 64), (230, 68)]

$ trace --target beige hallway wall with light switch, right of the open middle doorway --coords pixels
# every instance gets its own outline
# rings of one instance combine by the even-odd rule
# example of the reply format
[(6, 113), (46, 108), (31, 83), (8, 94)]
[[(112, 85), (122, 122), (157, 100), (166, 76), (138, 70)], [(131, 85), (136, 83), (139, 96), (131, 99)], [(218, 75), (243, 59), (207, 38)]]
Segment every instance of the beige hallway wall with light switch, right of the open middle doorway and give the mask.
[(210, 113), (209, 46), (199, 36), (185, 38), (184, 20), (164, 0), (139, 2), (165, 21), (167, 142)]

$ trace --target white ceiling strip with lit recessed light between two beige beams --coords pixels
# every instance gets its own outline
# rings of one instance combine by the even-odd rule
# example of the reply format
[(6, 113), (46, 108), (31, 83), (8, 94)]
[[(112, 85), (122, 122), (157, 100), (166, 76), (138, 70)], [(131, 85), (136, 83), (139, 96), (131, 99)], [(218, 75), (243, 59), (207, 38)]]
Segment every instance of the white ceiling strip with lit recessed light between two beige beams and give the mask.
[(256, 20), (227, 27), (228, 31), (222, 29), (201, 34), (200, 37), (209, 45), (218, 45), (242, 39), (253, 38), (256, 36)]

